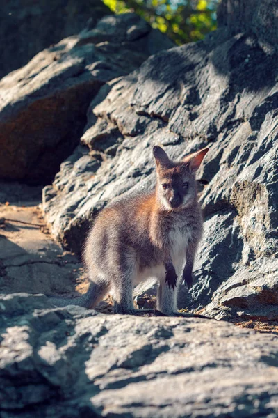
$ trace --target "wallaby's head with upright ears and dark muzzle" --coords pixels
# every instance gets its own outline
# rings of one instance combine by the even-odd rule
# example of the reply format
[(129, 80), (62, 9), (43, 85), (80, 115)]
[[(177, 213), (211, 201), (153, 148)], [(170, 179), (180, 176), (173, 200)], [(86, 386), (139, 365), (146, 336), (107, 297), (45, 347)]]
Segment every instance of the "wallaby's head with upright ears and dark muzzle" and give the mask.
[(153, 152), (159, 200), (168, 210), (186, 208), (197, 194), (195, 172), (208, 148), (188, 155), (181, 162), (171, 161), (160, 146), (154, 146)]

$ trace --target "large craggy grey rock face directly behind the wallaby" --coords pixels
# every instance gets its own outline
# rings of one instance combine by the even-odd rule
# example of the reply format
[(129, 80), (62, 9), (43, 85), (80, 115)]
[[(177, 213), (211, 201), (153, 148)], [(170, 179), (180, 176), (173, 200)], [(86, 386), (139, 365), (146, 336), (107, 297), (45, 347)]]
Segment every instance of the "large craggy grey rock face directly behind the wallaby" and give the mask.
[(204, 240), (180, 306), (216, 318), (278, 319), (277, 31), (269, 26), (278, 3), (269, 5), (222, 1), (218, 30), (205, 40), (102, 86), (81, 144), (44, 188), (52, 233), (80, 251), (101, 208), (153, 187), (152, 145), (176, 158), (209, 146), (199, 171)]

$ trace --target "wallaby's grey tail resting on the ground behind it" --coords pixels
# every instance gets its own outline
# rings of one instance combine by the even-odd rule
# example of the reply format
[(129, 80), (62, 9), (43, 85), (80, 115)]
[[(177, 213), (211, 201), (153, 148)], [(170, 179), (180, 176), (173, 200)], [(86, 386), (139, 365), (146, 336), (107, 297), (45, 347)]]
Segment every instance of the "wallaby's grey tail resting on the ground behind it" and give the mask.
[(93, 309), (101, 301), (108, 290), (107, 284), (91, 283), (87, 293), (80, 297), (72, 299), (63, 297), (49, 297), (49, 301), (56, 307), (67, 307), (68, 305), (77, 305), (79, 307)]

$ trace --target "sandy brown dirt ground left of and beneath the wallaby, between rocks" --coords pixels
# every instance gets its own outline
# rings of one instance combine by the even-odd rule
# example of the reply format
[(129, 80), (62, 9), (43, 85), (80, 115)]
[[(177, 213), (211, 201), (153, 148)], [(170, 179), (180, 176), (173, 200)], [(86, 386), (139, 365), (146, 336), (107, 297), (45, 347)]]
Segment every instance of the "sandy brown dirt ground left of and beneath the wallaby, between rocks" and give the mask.
[[(39, 196), (39, 195), (38, 195)], [(64, 251), (51, 237), (44, 223), (40, 199), (13, 199), (0, 203), (0, 293), (43, 293), (76, 297), (85, 293), (88, 277), (81, 261)], [(138, 307), (154, 308), (153, 295), (142, 295)], [(112, 297), (97, 307), (112, 313)], [(238, 327), (278, 334), (278, 323), (256, 320), (234, 321)]]

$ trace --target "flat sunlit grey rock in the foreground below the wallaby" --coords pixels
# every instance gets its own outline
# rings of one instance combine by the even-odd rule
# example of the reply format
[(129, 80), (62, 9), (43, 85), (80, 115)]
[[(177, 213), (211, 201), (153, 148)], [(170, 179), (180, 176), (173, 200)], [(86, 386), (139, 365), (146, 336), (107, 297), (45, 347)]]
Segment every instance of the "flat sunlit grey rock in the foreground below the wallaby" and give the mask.
[(1, 418), (277, 417), (278, 338), (0, 296)]

